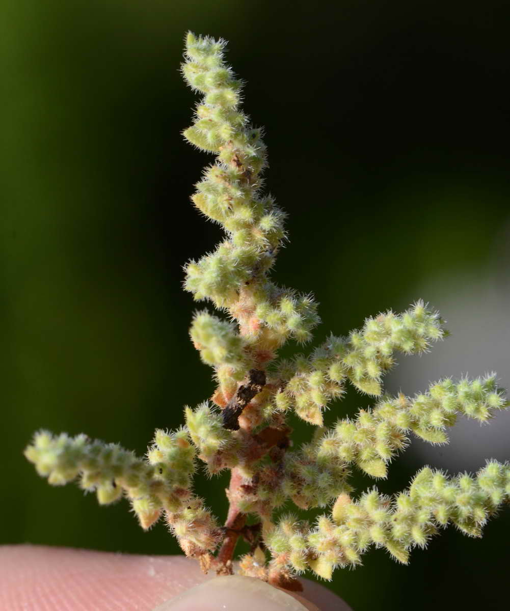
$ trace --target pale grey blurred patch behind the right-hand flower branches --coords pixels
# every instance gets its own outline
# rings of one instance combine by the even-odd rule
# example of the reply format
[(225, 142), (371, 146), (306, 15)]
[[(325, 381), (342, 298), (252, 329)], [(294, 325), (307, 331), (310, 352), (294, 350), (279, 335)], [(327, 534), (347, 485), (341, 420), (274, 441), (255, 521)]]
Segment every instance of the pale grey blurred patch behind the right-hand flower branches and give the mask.
[[(446, 319), (451, 332), (421, 357), (400, 359), (388, 379), (388, 390), (407, 395), (422, 392), (441, 378), (473, 379), (495, 371), (500, 386), (510, 389), (510, 226), (486, 268), (475, 273), (434, 277), (417, 287)], [(449, 472), (476, 471), (486, 459), (510, 458), (510, 411), (496, 412), (487, 423), (462, 416), (449, 430), (449, 444), (431, 445), (418, 437), (407, 450), (423, 464)]]

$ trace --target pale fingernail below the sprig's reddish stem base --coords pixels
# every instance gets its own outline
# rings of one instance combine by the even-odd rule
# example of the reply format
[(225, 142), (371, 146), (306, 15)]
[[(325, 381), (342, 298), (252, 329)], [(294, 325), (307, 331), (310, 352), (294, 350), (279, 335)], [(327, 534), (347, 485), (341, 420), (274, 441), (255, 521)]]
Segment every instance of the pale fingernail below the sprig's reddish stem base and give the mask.
[(282, 590), (260, 579), (215, 577), (164, 602), (154, 611), (306, 611)]

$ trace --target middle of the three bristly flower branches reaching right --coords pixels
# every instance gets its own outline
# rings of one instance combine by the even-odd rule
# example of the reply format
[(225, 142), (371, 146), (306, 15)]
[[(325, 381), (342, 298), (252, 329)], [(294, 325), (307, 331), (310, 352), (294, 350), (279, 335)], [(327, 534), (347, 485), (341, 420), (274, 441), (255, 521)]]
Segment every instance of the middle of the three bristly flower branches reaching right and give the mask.
[[(246, 499), (246, 510), (267, 516), (291, 499), (297, 507), (324, 507), (341, 492), (349, 492), (349, 466), (374, 478), (388, 475), (388, 464), (408, 444), (412, 431), (432, 443), (448, 441), (446, 426), (460, 414), (482, 422), (508, 405), (494, 375), (455, 384), (443, 379), (414, 398), (385, 397), (374, 409), (361, 409), (355, 419), (338, 420), (299, 452), (288, 452), (284, 468), (266, 466), (256, 498)], [(269, 510), (268, 510), (269, 508)]]

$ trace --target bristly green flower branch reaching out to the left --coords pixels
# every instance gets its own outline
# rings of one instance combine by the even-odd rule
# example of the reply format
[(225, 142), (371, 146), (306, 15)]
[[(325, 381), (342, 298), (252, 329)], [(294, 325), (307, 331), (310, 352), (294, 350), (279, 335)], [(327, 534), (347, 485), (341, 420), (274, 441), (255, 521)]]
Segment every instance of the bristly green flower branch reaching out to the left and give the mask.
[[(48, 477), (54, 486), (79, 478), (81, 488), (95, 491), (102, 505), (124, 493), (144, 529), (164, 513), (183, 549), (193, 549), (193, 553), (214, 549), (218, 538), (209, 510), (191, 492), (195, 453), (185, 429), (175, 433), (157, 430), (147, 458), (138, 458), (117, 444), (89, 441), (86, 435), (52, 436), (46, 431), (35, 434), (24, 452), (39, 475)], [(199, 536), (196, 521), (208, 525), (198, 530)], [(183, 522), (188, 530), (183, 529)]]

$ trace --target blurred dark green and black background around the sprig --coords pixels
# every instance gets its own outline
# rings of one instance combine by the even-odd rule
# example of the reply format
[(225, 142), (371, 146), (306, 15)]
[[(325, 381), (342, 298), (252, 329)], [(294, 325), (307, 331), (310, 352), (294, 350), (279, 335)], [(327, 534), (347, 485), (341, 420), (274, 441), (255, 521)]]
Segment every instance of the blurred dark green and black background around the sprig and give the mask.
[[(47, 428), (144, 453), (211, 393), (180, 288), (182, 265), (220, 237), (188, 201), (210, 161), (180, 137), (195, 101), (179, 75), (188, 29), (229, 40), (248, 81), (268, 189), (290, 214), (276, 276), (316, 293), (318, 340), (424, 298), (452, 337), (402, 359), (390, 390), (493, 369), (510, 386), (509, 13), (492, 0), (4, 0), (1, 543), (178, 552), (125, 502), (50, 488), (22, 451)], [(364, 404), (351, 392), (328, 419)], [(448, 448), (413, 442), (380, 488), (426, 463), (510, 458), (509, 437), (504, 414), (462, 422)], [(220, 515), (226, 483), (199, 486)], [(372, 551), (331, 587), (355, 611), (503, 608), (509, 528), (506, 510), (482, 540), (449, 529), (408, 567)]]

